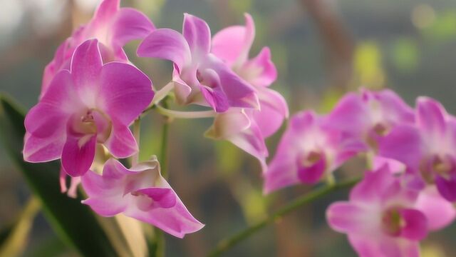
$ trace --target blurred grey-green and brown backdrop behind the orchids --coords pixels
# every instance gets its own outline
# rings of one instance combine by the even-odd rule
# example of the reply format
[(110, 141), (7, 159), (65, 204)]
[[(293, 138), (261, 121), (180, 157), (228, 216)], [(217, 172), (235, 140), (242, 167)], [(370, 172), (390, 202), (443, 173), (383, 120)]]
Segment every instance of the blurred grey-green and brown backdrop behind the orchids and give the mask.
[[(0, 0), (0, 91), (30, 108), (38, 99), (44, 66), (73, 28), (90, 19), (95, 0)], [(426, 95), (456, 114), (456, 2), (454, 0), (124, 0), (157, 27), (180, 31), (183, 13), (205, 19), (212, 34), (244, 24), (252, 14), (257, 36), (251, 55), (271, 47), (291, 113), (325, 112), (346, 91), (389, 87), (410, 105)], [(130, 59), (155, 88), (170, 80), (170, 63), (138, 59), (138, 42), (127, 46)], [(144, 119), (141, 156), (158, 153), (162, 118)], [(260, 167), (254, 158), (226, 142), (202, 134), (210, 120), (175, 121), (170, 131), (170, 184), (187, 208), (206, 224), (184, 240), (166, 236), (167, 256), (204, 256), (220, 239), (274, 211), (309, 186), (261, 195)], [(192, 128), (192, 129), (189, 129)], [(269, 138), (271, 155), (283, 129)], [(361, 173), (352, 161), (341, 175)], [(24, 178), (0, 148), (0, 231), (22, 213), (30, 197)], [(346, 199), (333, 194), (289, 214), (226, 256), (355, 256), (346, 237), (331, 231), (324, 211)], [(22, 256), (77, 256), (51, 230), (38, 211)], [(0, 236), (1, 236), (0, 232)], [(431, 234), (423, 256), (456, 256), (456, 225)]]

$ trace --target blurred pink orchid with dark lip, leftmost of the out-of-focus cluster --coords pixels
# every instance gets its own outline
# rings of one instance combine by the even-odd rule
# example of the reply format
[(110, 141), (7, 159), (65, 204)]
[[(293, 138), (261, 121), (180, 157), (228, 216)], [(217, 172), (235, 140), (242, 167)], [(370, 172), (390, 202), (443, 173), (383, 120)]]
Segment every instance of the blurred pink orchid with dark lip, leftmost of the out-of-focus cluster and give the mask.
[(364, 150), (363, 143), (343, 136), (325, 117), (312, 111), (295, 114), (264, 173), (264, 191), (270, 193), (296, 183), (317, 183)]

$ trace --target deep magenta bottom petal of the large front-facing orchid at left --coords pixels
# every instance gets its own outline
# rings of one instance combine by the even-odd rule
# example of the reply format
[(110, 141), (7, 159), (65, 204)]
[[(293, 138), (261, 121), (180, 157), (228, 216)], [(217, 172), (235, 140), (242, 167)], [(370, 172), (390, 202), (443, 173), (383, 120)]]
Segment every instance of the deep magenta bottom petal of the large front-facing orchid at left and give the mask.
[(95, 157), (96, 135), (67, 133), (62, 150), (62, 166), (70, 176), (82, 176), (92, 166)]

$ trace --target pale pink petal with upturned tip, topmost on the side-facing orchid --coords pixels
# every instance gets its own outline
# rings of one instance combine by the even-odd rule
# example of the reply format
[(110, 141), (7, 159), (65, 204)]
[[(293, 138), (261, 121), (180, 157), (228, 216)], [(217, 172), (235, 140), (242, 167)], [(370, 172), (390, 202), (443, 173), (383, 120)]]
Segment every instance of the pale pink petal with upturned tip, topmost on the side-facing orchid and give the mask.
[(255, 24), (250, 14), (244, 14), (245, 26), (229, 26), (212, 37), (212, 53), (229, 66), (244, 64), (255, 37)]

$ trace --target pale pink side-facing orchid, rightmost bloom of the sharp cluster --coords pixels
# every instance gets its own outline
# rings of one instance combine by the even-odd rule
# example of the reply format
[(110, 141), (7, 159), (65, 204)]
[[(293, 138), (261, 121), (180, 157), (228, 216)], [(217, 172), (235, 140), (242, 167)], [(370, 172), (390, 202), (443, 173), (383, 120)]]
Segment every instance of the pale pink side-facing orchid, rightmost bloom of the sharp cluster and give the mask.
[(217, 114), (214, 125), (206, 135), (225, 139), (259, 159), (266, 166), (268, 150), (264, 138), (275, 133), (289, 116), (283, 96), (267, 89), (276, 80), (276, 67), (271, 61), (269, 48), (249, 60), (249, 51), (255, 37), (252, 16), (245, 14), (245, 26), (230, 26), (219, 31), (212, 39), (212, 53), (228, 64), (232, 70), (254, 86), (259, 98), (260, 110), (230, 108)]

